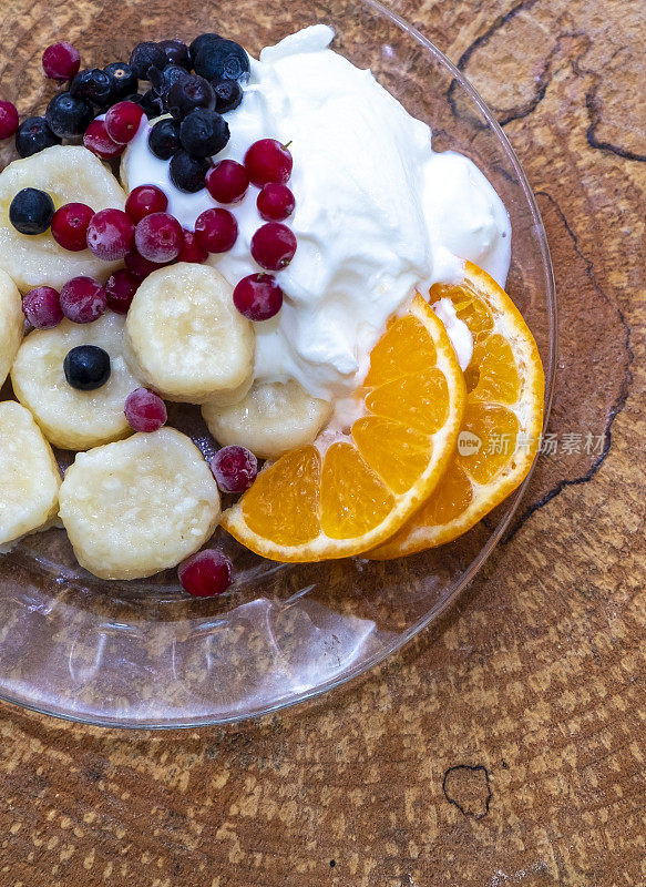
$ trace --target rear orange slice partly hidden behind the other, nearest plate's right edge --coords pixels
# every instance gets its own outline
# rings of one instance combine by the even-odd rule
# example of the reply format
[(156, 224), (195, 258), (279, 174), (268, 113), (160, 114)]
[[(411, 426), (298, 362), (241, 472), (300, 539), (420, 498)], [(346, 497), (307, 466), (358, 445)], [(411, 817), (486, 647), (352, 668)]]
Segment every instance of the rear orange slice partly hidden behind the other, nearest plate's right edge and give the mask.
[(459, 286), (435, 284), (473, 336), (464, 371), (466, 409), (447, 472), (422, 508), (367, 557), (399, 558), (450, 542), (471, 529), (526, 476), (543, 426), (545, 379), (536, 343), (519, 309), (470, 262)]

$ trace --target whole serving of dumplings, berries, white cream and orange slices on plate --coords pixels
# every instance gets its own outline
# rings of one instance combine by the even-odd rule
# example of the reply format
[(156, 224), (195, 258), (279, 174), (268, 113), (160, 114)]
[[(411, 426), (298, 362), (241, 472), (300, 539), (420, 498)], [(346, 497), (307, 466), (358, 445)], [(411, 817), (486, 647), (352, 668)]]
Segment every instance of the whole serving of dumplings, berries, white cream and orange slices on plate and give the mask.
[[(103, 70), (55, 44), (44, 116), (0, 103), (21, 155), (0, 174), (0, 546), (59, 516), (94, 575), (178, 567), (208, 597), (234, 578), (218, 526), (276, 561), (396, 558), (526, 476), (543, 371), (502, 289), (505, 207), (332, 39), (144, 42)], [(208, 462), (165, 401), (202, 415)], [(51, 447), (76, 453), (62, 482)]]

